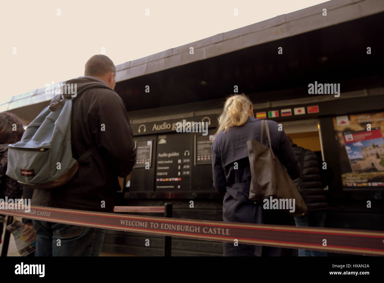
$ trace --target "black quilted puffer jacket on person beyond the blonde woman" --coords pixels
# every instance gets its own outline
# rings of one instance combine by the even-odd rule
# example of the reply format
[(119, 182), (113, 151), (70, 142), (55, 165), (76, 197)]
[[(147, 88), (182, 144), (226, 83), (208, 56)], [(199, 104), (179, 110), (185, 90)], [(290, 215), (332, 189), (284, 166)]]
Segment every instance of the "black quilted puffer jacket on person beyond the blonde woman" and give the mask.
[[(324, 185), (321, 182), (320, 167), (316, 154), (309, 149), (292, 145), (293, 152), (301, 165), (301, 155), (304, 154), (304, 164), (300, 166), (300, 177), (294, 182), (300, 187), (300, 194), (303, 197), (308, 211), (328, 209)], [(300, 184), (300, 179), (302, 184)]]

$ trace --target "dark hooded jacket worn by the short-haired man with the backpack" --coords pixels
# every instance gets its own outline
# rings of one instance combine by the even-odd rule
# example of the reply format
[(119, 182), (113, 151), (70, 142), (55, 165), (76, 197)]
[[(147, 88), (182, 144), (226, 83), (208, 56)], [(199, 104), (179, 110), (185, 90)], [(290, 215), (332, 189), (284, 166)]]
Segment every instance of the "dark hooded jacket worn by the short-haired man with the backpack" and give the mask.
[[(106, 85), (91, 76), (66, 83), (76, 83), (77, 92), (94, 83)], [(34, 190), (31, 205), (112, 212), (118, 176), (128, 175), (136, 162), (126, 107), (113, 89), (88, 89), (73, 99), (71, 144), (75, 159), (93, 145), (97, 150), (80, 164), (76, 175), (64, 186)]]

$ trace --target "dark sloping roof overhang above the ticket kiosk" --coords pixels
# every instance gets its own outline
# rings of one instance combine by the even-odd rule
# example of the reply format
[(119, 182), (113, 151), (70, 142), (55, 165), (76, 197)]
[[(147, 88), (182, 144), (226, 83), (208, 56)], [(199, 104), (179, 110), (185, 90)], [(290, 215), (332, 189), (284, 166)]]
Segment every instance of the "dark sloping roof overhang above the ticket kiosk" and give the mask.
[[(135, 111), (223, 98), (234, 85), (253, 94), (254, 103), (308, 97), (308, 81), (315, 80), (341, 82), (342, 92), (380, 87), (383, 15), (382, 0), (321, 3), (118, 65), (115, 90)], [(2, 101), (0, 111), (42, 109), (52, 96), (36, 89)], [(36, 116), (22, 112), (27, 120)]]

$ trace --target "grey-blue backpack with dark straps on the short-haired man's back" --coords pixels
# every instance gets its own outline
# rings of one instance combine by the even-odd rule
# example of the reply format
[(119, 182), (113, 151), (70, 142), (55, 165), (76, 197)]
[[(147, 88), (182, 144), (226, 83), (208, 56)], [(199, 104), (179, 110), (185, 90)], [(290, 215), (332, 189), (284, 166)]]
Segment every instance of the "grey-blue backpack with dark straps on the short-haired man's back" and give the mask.
[[(108, 88), (91, 84), (91, 88)], [(25, 187), (53, 189), (66, 184), (76, 174), (79, 164), (95, 150), (91, 147), (78, 160), (72, 157), (72, 99), (56, 95), (50, 104), (28, 125), (21, 141), (8, 145), (6, 174)]]

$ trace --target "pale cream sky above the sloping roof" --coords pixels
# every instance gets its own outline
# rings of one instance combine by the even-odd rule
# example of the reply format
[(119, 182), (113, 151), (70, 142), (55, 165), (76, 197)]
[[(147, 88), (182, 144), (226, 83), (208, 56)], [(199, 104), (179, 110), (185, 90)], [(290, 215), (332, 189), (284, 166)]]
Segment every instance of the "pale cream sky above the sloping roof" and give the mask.
[[(119, 65), (323, 2), (2, 1), (0, 102), (51, 81), (83, 75), (84, 64), (89, 57), (101, 54), (101, 48)], [(238, 16), (233, 15), (235, 8)]]

